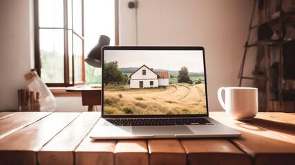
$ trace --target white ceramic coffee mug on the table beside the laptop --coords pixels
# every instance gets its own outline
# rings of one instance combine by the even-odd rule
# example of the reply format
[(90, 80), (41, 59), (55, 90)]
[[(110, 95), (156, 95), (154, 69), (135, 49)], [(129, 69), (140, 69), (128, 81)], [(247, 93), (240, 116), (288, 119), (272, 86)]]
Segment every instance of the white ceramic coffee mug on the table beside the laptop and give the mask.
[[(222, 90), (225, 90), (225, 102)], [(235, 120), (251, 120), (258, 113), (258, 89), (254, 87), (220, 87), (218, 100)]]

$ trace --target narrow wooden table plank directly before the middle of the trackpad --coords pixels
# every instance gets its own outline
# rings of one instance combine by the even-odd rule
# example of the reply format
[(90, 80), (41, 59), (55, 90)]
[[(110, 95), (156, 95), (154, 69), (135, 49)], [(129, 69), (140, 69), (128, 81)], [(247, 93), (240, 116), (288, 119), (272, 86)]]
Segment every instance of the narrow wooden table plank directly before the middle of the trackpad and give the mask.
[(185, 165), (187, 155), (178, 140), (148, 140), (150, 165)]

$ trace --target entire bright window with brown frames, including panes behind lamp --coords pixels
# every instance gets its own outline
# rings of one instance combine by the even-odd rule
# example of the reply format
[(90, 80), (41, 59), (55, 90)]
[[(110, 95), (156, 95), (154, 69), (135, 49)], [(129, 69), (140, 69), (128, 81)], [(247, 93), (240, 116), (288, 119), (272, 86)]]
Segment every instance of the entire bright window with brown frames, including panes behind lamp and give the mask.
[[(111, 38), (111, 45), (118, 45), (117, 0), (34, 0), (34, 3), (35, 69), (46, 85), (68, 87), (101, 83), (101, 69), (84, 63), (84, 58), (101, 34)], [(104, 14), (97, 14), (97, 10)], [(100, 17), (113, 21), (97, 21)], [(100, 23), (104, 29), (89, 23)], [(87, 32), (84, 34), (84, 31)]]

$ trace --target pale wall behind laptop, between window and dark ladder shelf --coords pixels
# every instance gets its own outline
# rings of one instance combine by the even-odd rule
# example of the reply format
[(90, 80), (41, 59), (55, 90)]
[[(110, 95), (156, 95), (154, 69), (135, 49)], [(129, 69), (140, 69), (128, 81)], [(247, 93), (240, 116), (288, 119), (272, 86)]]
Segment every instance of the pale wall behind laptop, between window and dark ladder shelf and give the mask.
[[(120, 45), (136, 45), (135, 9), (120, 1)], [(209, 110), (221, 111), (219, 87), (238, 86), (253, 1), (139, 0), (138, 45), (203, 46)]]

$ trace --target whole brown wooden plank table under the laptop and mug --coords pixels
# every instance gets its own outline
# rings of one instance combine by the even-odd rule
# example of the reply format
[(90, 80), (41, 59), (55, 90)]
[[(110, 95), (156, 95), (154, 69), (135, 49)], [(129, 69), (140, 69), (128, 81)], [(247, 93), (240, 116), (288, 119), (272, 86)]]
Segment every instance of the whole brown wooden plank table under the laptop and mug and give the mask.
[(0, 164), (295, 164), (295, 113), (211, 117), (236, 138), (91, 140), (99, 112), (0, 113)]

